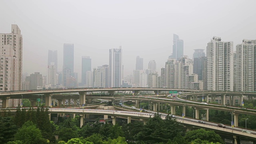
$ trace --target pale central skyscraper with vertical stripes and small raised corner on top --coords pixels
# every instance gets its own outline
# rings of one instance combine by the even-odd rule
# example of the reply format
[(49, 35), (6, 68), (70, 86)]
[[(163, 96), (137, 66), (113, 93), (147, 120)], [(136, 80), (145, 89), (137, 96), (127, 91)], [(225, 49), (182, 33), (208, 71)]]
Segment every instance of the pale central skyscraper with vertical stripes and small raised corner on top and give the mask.
[(122, 46), (109, 50), (109, 86), (120, 87), (122, 76)]

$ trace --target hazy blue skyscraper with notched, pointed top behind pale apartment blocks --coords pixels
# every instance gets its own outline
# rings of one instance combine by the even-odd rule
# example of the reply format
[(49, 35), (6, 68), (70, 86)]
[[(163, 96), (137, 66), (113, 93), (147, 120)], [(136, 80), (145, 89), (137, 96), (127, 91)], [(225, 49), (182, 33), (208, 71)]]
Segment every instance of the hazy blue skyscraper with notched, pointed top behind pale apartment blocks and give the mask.
[(179, 60), (179, 58), (184, 55), (184, 42), (179, 38), (177, 34), (173, 34), (173, 46), (172, 46), (172, 54), (169, 58), (175, 58)]

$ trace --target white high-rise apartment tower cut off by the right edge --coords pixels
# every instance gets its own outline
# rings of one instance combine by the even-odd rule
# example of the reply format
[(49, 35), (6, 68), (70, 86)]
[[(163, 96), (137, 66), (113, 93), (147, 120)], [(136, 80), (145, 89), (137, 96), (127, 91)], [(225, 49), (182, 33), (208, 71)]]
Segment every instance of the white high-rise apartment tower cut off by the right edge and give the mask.
[(256, 91), (256, 40), (242, 40), (234, 56), (234, 91)]

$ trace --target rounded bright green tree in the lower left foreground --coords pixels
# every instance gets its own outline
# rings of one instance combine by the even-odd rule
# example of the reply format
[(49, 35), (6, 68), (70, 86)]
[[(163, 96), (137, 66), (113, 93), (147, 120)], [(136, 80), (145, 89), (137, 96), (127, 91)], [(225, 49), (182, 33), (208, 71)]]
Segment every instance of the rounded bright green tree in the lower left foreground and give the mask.
[(46, 144), (47, 140), (42, 138), (41, 130), (31, 121), (25, 122), (14, 135), (14, 140), (20, 140), (24, 144)]

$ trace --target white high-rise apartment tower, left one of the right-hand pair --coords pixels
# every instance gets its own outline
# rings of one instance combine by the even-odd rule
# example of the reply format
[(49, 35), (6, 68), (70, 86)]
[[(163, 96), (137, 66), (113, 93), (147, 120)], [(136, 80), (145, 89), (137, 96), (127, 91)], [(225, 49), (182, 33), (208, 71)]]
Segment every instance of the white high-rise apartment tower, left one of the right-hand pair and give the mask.
[(214, 36), (206, 47), (208, 90), (233, 91), (233, 42)]

